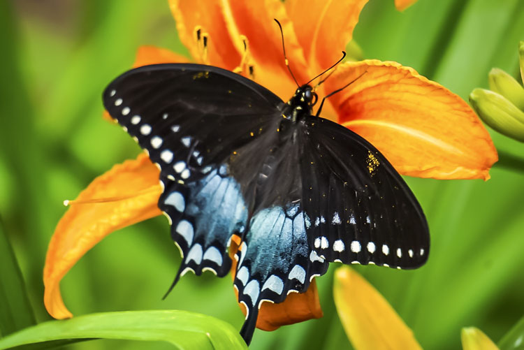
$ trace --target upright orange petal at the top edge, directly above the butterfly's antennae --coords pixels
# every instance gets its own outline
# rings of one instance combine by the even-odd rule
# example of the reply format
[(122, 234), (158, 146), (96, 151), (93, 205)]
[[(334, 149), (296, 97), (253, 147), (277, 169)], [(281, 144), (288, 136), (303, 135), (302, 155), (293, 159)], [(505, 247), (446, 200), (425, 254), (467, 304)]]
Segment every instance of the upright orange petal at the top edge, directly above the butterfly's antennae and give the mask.
[(320, 73), (340, 59), (366, 3), (367, 0), (286, 1), (298, 41), (314, 73)]

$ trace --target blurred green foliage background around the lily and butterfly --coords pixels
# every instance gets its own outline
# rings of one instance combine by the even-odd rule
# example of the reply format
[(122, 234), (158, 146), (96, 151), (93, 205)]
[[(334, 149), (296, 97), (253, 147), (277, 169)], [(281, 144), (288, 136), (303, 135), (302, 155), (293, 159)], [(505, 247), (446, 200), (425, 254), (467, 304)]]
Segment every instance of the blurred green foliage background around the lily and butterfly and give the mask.
[[(419, 0), (399, 13), (393, 0), (370, 0), (354, 37), (365, 58), (412, 66), (467, 100), (474, 87), (487, 87), (493, 66), (520, 77), (524, 1)], [(166, 0), (0, 1), (0, 38), (0, 217), (36, 319), (45, 321), (42, 270), (66, 211), (62, 201), (139, 152), (122, 129), (102, 119), (101, 92), (131, 66), (139, 45), (187, 50)], [(497, 342), (524, 315), (524, 147), (491, 134), (501, 160), (488, 182), (406, 179), (430, 224), (427, 265), (357, 267), (425, 349), (460, 348), (463, 326)], [(109, 235), (66, 275), (61, 290), (76, 315), (187, 309), (240, 330), (243, 316), (229, 277), (188, 274), (161, 300), (179, 263), (168, 223), (158, 217)], [(252, 349), (350, 348), (333, 304), (335, 267), (317, 279), (322, 319), (257, 330)], [(68, 349), (145, 346), (97, 340)]]

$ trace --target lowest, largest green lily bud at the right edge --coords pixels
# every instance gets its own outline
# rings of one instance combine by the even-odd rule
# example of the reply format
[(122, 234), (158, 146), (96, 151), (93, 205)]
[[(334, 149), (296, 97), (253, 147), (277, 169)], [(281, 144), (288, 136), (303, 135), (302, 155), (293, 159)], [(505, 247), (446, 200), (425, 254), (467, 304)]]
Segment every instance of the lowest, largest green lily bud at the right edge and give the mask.
[(524, 112), (504, 96), (485, 89), (474, 89), (470, 94), (470, 103), (491, 128), (524, 142)]

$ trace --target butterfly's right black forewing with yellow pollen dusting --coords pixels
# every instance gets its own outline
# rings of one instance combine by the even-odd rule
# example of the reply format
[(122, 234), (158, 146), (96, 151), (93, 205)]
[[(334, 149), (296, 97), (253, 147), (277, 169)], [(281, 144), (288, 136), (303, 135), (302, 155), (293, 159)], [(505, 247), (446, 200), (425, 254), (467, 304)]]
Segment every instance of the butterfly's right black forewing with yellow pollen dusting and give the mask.
[(423, 211), (386, 158), (349, 129), (307, 117), (300, 133), (303, 207), (322, 260), (417, 268), (428, 258)]

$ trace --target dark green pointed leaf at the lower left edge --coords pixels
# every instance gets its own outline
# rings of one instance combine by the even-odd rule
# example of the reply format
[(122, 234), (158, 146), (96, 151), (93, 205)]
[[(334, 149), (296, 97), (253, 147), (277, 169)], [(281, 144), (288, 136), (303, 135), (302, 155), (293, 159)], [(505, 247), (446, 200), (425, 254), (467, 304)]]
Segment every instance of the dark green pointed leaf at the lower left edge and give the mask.
[(36, 323), (22, 272), (0, 220), (0, 335)]

